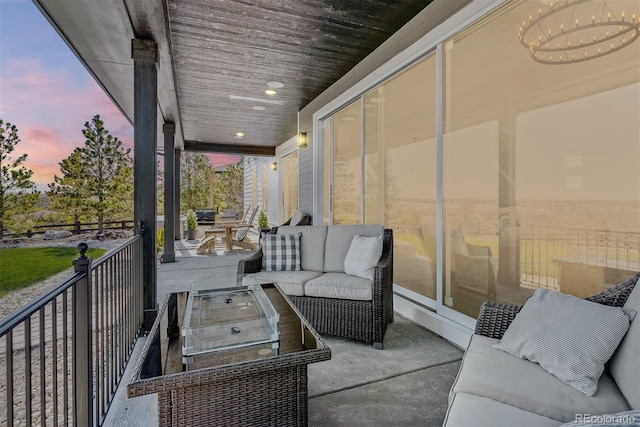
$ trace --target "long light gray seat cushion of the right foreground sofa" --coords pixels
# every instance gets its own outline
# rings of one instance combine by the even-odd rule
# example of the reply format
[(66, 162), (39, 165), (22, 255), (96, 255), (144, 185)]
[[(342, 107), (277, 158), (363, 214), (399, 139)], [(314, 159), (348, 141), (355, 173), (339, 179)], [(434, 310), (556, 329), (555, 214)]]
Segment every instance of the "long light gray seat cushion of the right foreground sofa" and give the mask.
[(624, 396), (608, 372), (600, 377), (598, 391), (586, 396), (542, 369), (492, 344), (499, 340), (473, 335), (452, 388), (515, 406), (561, 422), (575, 414), (604, 414), (629, 410)]

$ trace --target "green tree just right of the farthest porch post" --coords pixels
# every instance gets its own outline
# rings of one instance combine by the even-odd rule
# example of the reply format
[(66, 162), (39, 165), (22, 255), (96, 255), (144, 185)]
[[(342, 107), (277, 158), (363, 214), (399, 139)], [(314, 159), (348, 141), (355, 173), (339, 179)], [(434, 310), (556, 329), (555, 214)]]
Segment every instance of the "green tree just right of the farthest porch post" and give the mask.
[(209, 177), (213, 171), (204, 154), (183, 153), (180, 158), (180, 209), (183, 213), (209, 205)]

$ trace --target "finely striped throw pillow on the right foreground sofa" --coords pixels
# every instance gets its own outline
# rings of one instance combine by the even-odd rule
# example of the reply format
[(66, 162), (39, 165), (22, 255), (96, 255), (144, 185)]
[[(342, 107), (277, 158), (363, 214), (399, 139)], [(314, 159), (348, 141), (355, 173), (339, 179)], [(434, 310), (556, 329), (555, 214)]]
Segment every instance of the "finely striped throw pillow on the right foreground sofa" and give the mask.
[(633, 310), (536, 289), (494, 348), (541, 368), (593, 396), (604, 364), (627, 333)]

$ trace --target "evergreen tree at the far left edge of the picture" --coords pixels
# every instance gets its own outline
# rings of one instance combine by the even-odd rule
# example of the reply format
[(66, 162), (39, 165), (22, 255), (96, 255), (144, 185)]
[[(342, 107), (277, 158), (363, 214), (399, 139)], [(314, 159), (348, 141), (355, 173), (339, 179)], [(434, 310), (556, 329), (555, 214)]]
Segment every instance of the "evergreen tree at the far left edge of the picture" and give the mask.
[(18, 143), (18, 128), (0, 119), (0, 238), (38, 201), (33, 171), (24, 166), (27, 154), (11, 156)]

